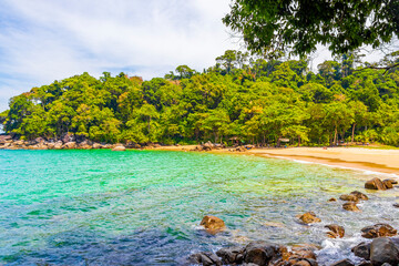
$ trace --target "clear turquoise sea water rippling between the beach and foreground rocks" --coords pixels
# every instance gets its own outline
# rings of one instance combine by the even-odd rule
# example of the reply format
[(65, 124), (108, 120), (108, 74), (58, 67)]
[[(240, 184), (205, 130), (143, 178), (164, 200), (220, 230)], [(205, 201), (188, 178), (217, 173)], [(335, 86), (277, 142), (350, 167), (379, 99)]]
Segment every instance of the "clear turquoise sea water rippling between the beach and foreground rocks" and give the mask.
[[(327, 203), (362, 191), (368, 177), (243, 155), (0, 151), (0, 264), (180, 265), (191, 253), (256, 239), (323, 246), (329, 223), (345, 225), (348, 241), (332, 244), (347, 254), (361, 227), (399, 226), (396, 190), (368, 194), (362, 213)], [(296, 215), (308, 211), (323, 223), (298, 224)], [(207, 214), (227, 231), (204, 233)]]

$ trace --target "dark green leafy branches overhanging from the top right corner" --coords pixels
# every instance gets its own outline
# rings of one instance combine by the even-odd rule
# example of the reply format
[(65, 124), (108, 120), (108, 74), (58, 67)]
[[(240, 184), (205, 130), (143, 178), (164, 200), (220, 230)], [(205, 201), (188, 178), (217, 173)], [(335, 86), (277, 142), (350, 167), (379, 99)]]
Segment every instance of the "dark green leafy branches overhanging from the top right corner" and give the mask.
[(233, 0), (231, 8), (223, 22), (258, 53), (304, 55), (321, 43), (342, 54), (399, 37), (397, 0)]

